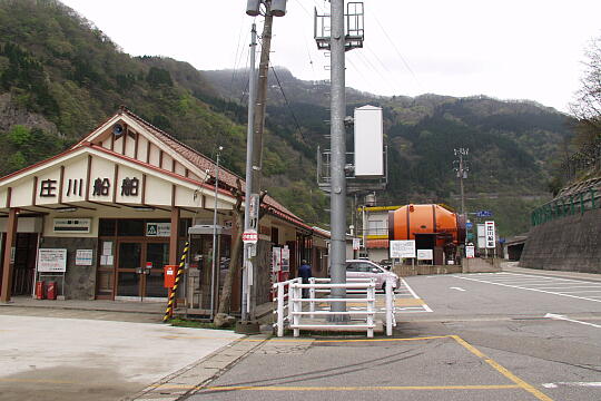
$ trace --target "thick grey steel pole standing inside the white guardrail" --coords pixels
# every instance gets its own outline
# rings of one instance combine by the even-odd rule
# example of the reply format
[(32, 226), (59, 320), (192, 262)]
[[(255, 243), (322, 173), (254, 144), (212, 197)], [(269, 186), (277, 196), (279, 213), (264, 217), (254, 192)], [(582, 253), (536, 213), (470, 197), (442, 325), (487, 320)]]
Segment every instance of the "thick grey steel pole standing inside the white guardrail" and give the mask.
[[(346, 116), (345, 96), (345, 29), (344, 0), (331, 0), (332, 33), (331, 51), (331, 212), (332, 227), (331, 277), (333, 284), (346, 283), (346, 143), (344, 117)], [(346, 288), (332, 288), (332, 297), (345, 299)], [(345, 302), (333, 302), (333, 312), (346, 312)], [(334, 314), (331, 320), (343, 322), (345, 314)]]

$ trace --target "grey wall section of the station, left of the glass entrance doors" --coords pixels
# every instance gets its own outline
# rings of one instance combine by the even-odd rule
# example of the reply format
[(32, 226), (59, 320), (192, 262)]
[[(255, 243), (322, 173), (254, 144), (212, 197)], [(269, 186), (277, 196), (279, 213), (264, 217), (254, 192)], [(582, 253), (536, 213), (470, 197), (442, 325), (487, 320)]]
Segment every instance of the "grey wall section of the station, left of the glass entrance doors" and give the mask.
[[(67, 300), (93, 300), (96, 293), (98, 238), (43, 237), (40, 247), (67, 250), (67, 273), (65, 275), (65, 297)], [(93, 250), (91, 266), (76, 266), (77, 250)], [(59, 285), (58, 293), (62, 293), (60, 277), (45, 277), (43, 280), (57, 281)]]

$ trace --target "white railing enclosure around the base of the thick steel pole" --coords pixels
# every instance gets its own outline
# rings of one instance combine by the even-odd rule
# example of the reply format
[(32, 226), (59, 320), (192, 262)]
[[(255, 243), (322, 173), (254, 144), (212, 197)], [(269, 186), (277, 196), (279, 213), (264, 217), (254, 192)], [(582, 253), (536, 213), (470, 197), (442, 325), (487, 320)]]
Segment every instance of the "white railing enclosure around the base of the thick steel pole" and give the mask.
[[(309, 278), (309, 284), (303, 284), (300, 278), (288, 280), (274, 284), (276, 290), (276, 296), (274, 302), (277, 303), (274, 307), (276, 314), (276, 322), (274, 327), (277, 329), (277, 336), (283, 336), (286, 327), (293, 329), (294, 336), (300, 334), (303, 329), (324, 329), (329, 327), (341, 329), (345, 324), (327, 324), (328, 315), (353, 315), (364, 316), (365, 323), (356, 324), (352, 320), (348, 320), (346, 326), (349, 329), (365, 329), (367, 336), (374, 336), (375, 315), (377, 313), (385, 314), (386, 321), (386, 335), (392, 335), (393, 327), (396, 326), (396, 319), (394, 316), (394, 288), (393, 281), (386, 281), (386, 294), (385, 294), (385, 309), (384, 312), (376, 310), (376, 296), (375, 296), (375, 281), (370, 278), (347, 278), (346, 284), (332, 284), (331, 278)], [(303, 290), (308, 290), (308, 297), (303, 297)], [(346, 297), (346, 299), (333, 299), (329, 296), (318, 297), (317, 294), (329, 294), (332, 288), (346, 288), (347, 293), (353, 295), (365, 295), (364, 297)], [(332, 303), (332, 302), (352, 302), (364, 303), (366, 305), (363, 310), (353, 310), (346, 312), (332, 312), (331, 310), (315, 310), (316, 304)], [(308, 311), (303, 309), (303, 305), (308, 303)], [(303, 317), (324, 316), (325, 322), (302, 322)], [(356, 320), (355, 320), (356, 322)]]

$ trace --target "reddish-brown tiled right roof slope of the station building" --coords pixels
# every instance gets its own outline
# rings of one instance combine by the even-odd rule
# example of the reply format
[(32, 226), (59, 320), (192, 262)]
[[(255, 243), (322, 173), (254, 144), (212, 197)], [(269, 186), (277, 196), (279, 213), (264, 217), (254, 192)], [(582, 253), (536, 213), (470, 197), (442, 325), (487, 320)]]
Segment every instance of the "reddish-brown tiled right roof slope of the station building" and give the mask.
[[(157, 139), (159, 139), (165, 145), (169, 146), (171, 149), (174, 149), (179, 155), (184, 156), (187, 160), (189, 160), (191, 164), (194, 164), (196, 167), (198, 167), (203, 172), (208, 172), (208, 174), (211, 177), (215, 177), (215, 168), (216, 163), (214, 163), (210, 158), (203, 155), (198, 150), (193, 149), (188, 145), (177, 140), (171, 135), (167, 134), (166, 131), (161, 130), (160, 128), (155, 127), (150, 123), (146, 121), (141, 117), (137, 116), (136, 114), (131, 113), (127, 108), (122, 107), (121, 113), (126, 114), (128, 117), (136, 119), (139, 124), (144, 125), (144, 127), (152, 134)], [(236, 188), (236, 182), (240, 180), (240, 185), (243, 187), (243, 190), (245, 188), (245, 180), (242, 177), (238, 177), (236, 174), (231, 173), (227, 168), (224, 168), (223, 166), (219, 166), (219, 182), (224, 183), (225, 185), (229, 186), (230, 188)], [(289, 219), (296, 224), (300, 224), (303, 226), (306, 226), (300, 217), (296, 216), (294, 213), (288, 211), (286, 207), (284, 207), (280, 203), (278, 203), (276, 199), (270, 197), (269, 195), (265, 196), (263, 199), (264, 203), (267, 206), (270, 206), (272, 208), (275, 208), (276, 211), (288, 215)], [(285, 216), (282, 216), (285, 217)], [(308, 227), (308, 226), (307, 226)]]

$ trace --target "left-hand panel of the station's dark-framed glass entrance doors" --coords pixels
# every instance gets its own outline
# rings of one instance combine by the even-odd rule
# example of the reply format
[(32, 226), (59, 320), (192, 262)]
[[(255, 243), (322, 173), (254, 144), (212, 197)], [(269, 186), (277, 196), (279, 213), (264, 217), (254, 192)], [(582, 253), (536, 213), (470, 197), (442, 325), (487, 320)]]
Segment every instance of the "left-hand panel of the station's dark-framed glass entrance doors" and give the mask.
[(117, 264), (117, 296), (142, 296), (142, 244), (120, 242)]

